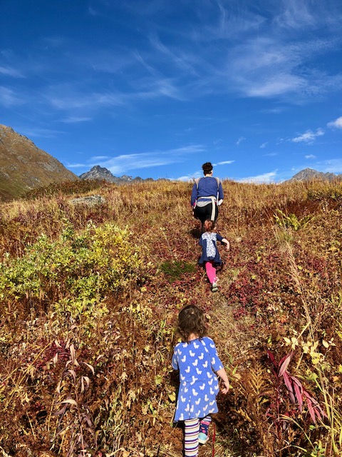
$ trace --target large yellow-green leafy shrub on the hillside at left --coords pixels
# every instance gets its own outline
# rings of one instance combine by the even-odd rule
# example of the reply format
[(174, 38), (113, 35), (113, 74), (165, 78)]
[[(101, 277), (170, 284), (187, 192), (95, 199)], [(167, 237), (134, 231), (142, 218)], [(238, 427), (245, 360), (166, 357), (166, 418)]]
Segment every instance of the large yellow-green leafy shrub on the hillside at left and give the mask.
[(139, 248), (130, 233), (111, 224), (70, 226), (56, 241), (41, 235), (24, 256), (0, 263), (0, 301), (95, 303), (138, 278)]

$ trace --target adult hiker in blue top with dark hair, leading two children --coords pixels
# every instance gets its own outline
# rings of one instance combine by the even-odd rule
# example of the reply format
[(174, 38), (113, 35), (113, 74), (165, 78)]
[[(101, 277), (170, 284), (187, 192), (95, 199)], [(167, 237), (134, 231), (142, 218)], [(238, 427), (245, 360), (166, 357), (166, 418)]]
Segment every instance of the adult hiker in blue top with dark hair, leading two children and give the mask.
[(210, 219), (216, 221), (219, 214), (218, 206), (223, 201), (222, 184), (218, 178), (212, 176), (212, 164), (206, 162), (202, 165), (204, 177), (196, 179), (192, 187), (191, 206), (194, 216), (202, 222)]

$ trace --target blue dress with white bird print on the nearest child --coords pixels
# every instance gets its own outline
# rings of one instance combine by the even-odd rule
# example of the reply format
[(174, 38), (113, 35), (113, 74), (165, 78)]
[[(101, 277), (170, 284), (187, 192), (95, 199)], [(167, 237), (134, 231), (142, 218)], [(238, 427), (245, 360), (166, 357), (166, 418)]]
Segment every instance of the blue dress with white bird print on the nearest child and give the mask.
[(172, 368), (180, 370), (175, 422), (217, 413), (219, 381), (214, 371), (223, 365), (212, 338), (204, 336), (189, 343), (177, 343)]

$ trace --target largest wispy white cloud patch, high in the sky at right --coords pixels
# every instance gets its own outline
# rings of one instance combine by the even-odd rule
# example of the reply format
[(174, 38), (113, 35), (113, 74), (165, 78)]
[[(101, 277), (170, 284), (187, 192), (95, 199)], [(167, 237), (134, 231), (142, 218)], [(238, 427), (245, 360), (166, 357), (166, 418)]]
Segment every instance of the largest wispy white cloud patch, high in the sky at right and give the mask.
[[(234, 89), (245, 96), (284, 98), (300, 94), (301, 99), (308, 99), (337, 90), (341, 84), (341, 75), (329, 76), (318, 69), (310, 69), (307, 64), (315, 55), (334, 46), (334, 42), (326, 41), (286, 44), (261, 36), (232, 49), (228, 78), (233, 80)], [(301, 99), (292, 101), (298, 103)]]

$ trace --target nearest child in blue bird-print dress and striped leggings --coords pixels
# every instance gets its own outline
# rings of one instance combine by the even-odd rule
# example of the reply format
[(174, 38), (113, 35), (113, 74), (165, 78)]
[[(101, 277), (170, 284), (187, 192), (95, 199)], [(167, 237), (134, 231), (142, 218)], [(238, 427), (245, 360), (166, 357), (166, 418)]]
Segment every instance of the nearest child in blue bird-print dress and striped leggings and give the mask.
[(182, 308), (178, 315), (177, 330), (182, 342), (176, 344), (172, 356), (172, 368), (180, 371), (175, 422), (184, 421), (185, 457), (197, 457), (199, 443), (205, 444), (209, 439), (210, 414), (218, 411), (217, 375), (224, 383), (222, 393), (228, 392), (229, 381), (214, 341), (205, 336), (207, 328), (201, 309), (195, 305)]

